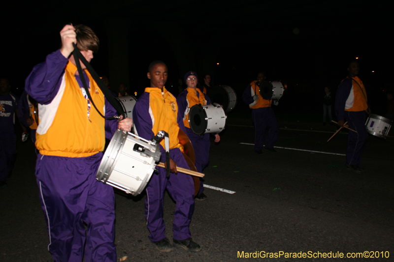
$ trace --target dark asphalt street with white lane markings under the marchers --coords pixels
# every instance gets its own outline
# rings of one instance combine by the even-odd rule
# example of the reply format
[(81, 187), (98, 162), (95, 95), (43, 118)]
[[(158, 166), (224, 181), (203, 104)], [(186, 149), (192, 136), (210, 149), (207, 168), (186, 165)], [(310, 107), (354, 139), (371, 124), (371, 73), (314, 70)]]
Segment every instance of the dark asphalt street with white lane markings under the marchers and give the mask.
[[(118, 261), (238, 261), (242, 254), (296, 253), (316, 256), (368, 251), (368, 259), (258, 258), (257, 261), (394, 261), (394, 138), (369, 136), (362, 174), (344, 167), (346, 132), (328, 144), (333, 126), (320, 119), (277, 112), (278, 153), (253, 152), (254, 128), (246, 110), (230, 112), (219, 145), (211, 146), (207, 185), (235, 191), (205, 189), (197, 202), (191, 232), (199, 253), (176, 249), (160, 253), (150, 243), (144, 218), (145, 196), (116, 191)], [(320, 116), (319, 116), (320, 117)], [(291, 120), (290, 120), (291, 119)], [(245, 144), (241, 144), (245, 143)], [(299, 151), (295, 148), (337, 154)], [(34, 177), (33, 144), (18, 143), (18, 159), (8, 185), (0, 188), (0, 261), (52, 261)], [(166, 195), (167, 236), (175, 204)], [(373, 253), (372, 253), (373, 252)], [(256, 254), (256, 253), (255, 253)], [(366, 253), (364, 253), (366, 254)], [(389, 258), (382, 258), (390, 256)]]

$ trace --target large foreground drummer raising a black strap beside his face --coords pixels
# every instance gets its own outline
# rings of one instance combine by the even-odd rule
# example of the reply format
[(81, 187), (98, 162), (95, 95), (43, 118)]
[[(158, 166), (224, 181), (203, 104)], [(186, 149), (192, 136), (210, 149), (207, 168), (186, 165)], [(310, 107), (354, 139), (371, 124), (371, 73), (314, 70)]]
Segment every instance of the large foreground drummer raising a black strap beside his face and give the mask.
[[(132, 121), (104, 120), (90, 107), (71, 53), (76, 43), (90, 62), (99, 49), (95, 32), (66, 25), (60, 35), (61, 49), (33, 68), (25, 87), (39, 103), (35, 175), (48, 226), (48, 250), (54, 261), (115, 262), (115, 195), (110, 185), (97, 181), (96, 173), (105, 136), (110, 138), (118, 128), (130, 131)], [(117, 115), (87, 70), (84, 76), (101, 114)]]

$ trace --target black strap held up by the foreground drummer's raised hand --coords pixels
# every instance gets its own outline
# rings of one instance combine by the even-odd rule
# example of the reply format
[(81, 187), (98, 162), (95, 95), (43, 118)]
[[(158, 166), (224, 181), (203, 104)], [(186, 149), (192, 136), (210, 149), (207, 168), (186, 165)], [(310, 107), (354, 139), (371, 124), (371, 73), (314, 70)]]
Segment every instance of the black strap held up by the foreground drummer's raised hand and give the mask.
[(84, 56), (82, 56), (82, 54), (79, 51), (77, 45), (75, 43), (73, 43), (72, 45), (74, 46), (74, 51), (72, 51), (72, 54), (74, 56), (75, 65), (77, 66), (78, 73), (79, 73), (79, 76), (81, 78), (83, 88), (85, 89), (86, 94), (88, 95), (88, 98), (92, 102), (93, 106), (95, 107), (95, 109), (97, 110), (99, 115), (102, 116), (105, 119), (108, 119), (108, 120), (112, 120), (112, 119), (118, 118), (116, 116), (113, 116), (113, 117), (103, 116), (101, 114), (101, 112), (97, 109), (95, 103), (93, 102), (92, 96), (90, 95), (90, 92), (89, 92), (89, 89), (88, 89), (88, 85), (86, 83), (85, 76), (83, 74), (83, 70), (82, 70), (81, 64), (79, 63), (79, 59), (81, 59), (81, 61), (84, 63), (84, 65), (88, 69), (89, 73), (92, 75), (93, 79), (95, 80), (95, 82), (97, 83), (99, 88), (101, 89), (102, 93), (104, 94), (104, 96), (108, 100), (108, 102), (115, 108), (116, 111), (118, 111), (118, 113), (120, 113), (123, 116), (123, 118), (125, 118), (125, 112), (124, 112), (123, 108), (121, 107), (119, 100), (117, 100), (112, 95), (111, 91), (108, 89), (108, 87), (105, 86), (104, 82), (102, 82), (102, 80), (100, 79), (99, 75), (93, 69), (92, 65), (84, 58)]

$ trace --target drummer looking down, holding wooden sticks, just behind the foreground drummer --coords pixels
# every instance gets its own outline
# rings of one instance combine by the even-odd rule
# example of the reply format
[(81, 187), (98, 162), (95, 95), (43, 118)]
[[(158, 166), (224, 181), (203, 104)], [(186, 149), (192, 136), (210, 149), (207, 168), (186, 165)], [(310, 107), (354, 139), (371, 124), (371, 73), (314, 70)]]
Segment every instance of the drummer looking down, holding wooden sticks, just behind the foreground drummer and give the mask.
[[(198, 252), (201, 247), (192, 240), (189, 225), (194, 211), (194, 181), (190, 175), (177, 172), (176, 168), (190, 169), (180, 150), (179, 129), (185, 132), (185, 126), (180, 115), (175, 97), (165, 89), (168, 69), (162, 61), (153, 61), (148, 67), (147, 77), (150, 87), (136, 102), (132, 117), (138, 136), (150, 140), (159, 131), (164, 130), (169, 135), (169, 148), (165, 148), (164, 140), (160, 143), (161, 161), (166, 163), (165, 149), (169, 149), (170, 172), (166, 176), (164, 168), (157, 167), (159, 173), (154, 173), (146, 187), (145, 217), (150, 231), (149, 239), (161, 252), (170, 252), (173, 247), (165, 235), (163, 220), (164, 191), (176, 202), (174, 212), (173, 243), (188, 251)], [(174, 174), (175, 173), (175, 174)]]

